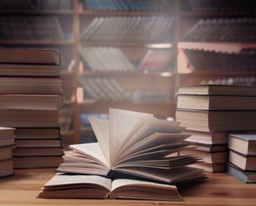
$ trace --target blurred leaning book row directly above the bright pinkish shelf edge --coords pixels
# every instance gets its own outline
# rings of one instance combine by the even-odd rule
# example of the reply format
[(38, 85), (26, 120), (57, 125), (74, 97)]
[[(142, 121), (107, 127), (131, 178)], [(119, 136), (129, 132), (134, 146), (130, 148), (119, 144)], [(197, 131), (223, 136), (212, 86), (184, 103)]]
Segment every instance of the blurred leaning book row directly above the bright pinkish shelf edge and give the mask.
[(255, 41), (254, 17), (200, 18), (185, 32), (184, 41), (251, 42)]

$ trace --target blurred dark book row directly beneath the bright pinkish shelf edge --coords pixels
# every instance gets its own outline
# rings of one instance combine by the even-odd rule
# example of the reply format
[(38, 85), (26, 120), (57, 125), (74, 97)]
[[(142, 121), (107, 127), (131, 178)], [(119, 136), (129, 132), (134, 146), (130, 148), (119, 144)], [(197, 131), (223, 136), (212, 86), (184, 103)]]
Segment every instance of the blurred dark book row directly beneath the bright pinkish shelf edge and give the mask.
[(181, 48), (189, 71), (255, 71), (256, 51), (245, 48), (240, 52), (215, 52)]

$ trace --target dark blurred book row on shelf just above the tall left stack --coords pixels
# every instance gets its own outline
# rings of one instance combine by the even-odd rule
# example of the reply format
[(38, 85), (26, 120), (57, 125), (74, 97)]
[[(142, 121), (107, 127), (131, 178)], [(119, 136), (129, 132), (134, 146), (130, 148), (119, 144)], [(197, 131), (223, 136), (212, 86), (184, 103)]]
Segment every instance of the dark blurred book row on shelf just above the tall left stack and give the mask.
[(67, 40), (58, 17), (0, 16), (0, 40)]

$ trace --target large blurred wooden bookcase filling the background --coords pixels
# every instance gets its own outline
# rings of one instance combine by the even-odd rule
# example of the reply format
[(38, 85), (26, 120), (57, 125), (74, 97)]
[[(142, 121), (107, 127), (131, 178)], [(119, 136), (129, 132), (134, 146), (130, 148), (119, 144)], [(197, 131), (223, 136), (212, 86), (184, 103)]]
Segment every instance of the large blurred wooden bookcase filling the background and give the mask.
[[(228, 2), (1, 1), (0, 44), (2, 48), (60, 51), (65, 97), (60, 113), (60, 122), (64, 122), (62, 133), (67, 143), (89, 141), (93, 140), (93, 133), (83, 127), (86, 114), (105, 114), (113, 107), (153, 113), (159, 118), (173, 117), (177, 85), (221, 83), (235, 77), (240, 84), (248, 81), (255, 84), (253, 68), (243, 71), (188, 68), (184, 49), (227, 54), (256, 48), (254, 4), (249, 0), (234, 0), (231, 6)], [(249, 27), (242, 31), (249, 29), (252, 35), (246, 40), (184, 38), (200, 19), (248, 21)]]

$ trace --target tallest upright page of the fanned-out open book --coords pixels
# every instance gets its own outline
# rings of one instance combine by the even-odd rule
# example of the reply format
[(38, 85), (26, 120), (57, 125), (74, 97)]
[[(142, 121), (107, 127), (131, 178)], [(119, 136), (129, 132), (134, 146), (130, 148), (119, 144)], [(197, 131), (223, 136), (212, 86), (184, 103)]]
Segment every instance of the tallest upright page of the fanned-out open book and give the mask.
[(111, 165), (114, 155), (118, 151), (118, 147), (122, 145), (126, 135), (133, 128), (140, 116), (152, 116), (149, 113), (137, 113), (122, 109), (109, 109), (110, 116), (110, 151), (111, 151)]

